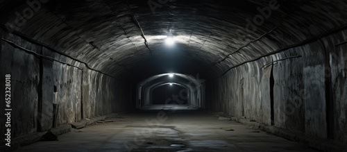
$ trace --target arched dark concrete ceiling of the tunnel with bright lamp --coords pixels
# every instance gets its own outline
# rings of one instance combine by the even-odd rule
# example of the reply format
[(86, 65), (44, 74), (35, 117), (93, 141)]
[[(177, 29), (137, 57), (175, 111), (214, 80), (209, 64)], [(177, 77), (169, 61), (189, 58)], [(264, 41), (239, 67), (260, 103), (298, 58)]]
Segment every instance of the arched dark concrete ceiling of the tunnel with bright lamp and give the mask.
[[(269, 7), (269, 1), (170, 0), (153, 14), (148, 1), (129, 0), (152, 56), (126, 1), (49, 0), (22, 25), (15, 24), (16, 12), (28, 8), (26, 1), (0, 1), (0, 11), (2, 25), (15, 24), (12, 30), (118, 78), (169, 71), (213, 78), (346, 26), (347, 1), (278, 0), (279, 8), (264, 23), (247, 30), (246, 19), (261, 15), (257, 8)], [(171, 48), (164, 44), (169, 33), (177, 39)]]

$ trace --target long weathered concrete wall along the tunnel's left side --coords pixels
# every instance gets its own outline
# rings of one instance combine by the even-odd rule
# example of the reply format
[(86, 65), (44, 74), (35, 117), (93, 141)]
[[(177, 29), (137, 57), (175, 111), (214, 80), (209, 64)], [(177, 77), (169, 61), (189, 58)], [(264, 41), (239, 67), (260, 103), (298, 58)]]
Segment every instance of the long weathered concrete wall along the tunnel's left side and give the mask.
[[(5, 31), (0, 33), (25, 49), (61, 61), (35, 56), (1, 40), (1, 86), (5, 86), (5, 74), (11, 74), (12, 138), (51, 129), (53, 104), (58, 104), (56, 126), (132, 108), (131, 83), (87, 69), (80, 62)], [(4, 96), (4, 87), (0, 88)], [(3, 100), (0, 105), (3, 114)], [(5, 121), (1, 117), (0, 124)], [(5, 134), (2, 128), (1, 134)]]

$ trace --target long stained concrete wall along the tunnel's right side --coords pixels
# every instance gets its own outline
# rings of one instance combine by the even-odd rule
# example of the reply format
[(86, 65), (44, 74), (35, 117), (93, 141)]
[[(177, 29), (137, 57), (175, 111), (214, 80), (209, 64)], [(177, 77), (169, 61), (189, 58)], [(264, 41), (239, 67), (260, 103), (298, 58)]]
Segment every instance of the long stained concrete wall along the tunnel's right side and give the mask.
[[(340, 44), (346, 33), (248, 62), (208, 81), (207, 108), (347, 142), (347, 44)], [(302, 57), (288, 58), (294, 56)], [(288, 59), (263, 67), (283, 58)]]

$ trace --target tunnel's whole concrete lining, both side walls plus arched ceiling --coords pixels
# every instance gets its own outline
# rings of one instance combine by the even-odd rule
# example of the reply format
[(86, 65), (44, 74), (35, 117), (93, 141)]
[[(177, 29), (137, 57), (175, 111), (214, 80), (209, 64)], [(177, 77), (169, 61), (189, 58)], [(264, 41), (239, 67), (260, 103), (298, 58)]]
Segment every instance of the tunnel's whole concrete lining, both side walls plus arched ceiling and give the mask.
[[(176, 68), (208, 79), (205, 108), (346, 141), (346, 1), (278, 1), (253, 31), (245, 19), (269, 1), (232, 2), (170, 1), (153, 15), (133, 1), (151, 56), (124, 1), (49, 1), (23, 24), (15, 12), (26, 2), (0, 1), (2, 38), (60, 60), (1, 40), (1, 79), (12, 74), (13, 117), (22, 121), (15, 137), (51, 128), (53, 103), (58, 124), (128, 110), (132, 82)], [(163, 43), (169, 33), (176, 48)]]

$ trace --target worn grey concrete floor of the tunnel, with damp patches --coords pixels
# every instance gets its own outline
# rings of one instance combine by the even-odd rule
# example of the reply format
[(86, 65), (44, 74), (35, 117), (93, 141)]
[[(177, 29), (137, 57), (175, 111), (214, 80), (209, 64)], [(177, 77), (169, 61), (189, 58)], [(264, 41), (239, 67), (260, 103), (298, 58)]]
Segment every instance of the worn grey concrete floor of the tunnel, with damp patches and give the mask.
[(199, 110), (160, 107), (72, 130), (59, 141), (37, 142), (18, 151), (315, 151)]

